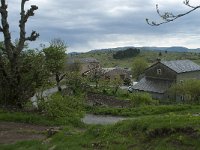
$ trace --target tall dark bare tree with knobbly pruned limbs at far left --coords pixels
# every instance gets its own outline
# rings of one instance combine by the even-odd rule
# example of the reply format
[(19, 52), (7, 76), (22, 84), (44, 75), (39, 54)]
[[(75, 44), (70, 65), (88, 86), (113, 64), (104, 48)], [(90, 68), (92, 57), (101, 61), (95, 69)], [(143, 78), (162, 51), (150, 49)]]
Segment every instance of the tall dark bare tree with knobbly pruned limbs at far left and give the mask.
[[(1, 24), (0, 32), (3, 33), (4, 41), (0, 46), (0, 94), (1, 100), (4, 99), (7, 104), (22, 106), (21, 100), (27, 98), (23, 96), (20, 89), (21, 85), (21, 54), (25, 47), (25, 42), (35, 41), (39, 34), (32, 31), (29, 36), (26, 36), (26, 23), (31, 16), (34, 16), (34, 11), (38, 9), (36, 5), (31, 5), (30, 9), (25, 10), (25, 3), (29, 0), (21, 0), (20, 20), (19, 20), (19, 41), (17, 44), (12, 42), (6, 0), (1, 0), (0, 14)], [(5, 86), (2, 88), (2, 86)], [(8, 91), (5, 91), (8, 90)], [(30, 95), (29, 95), (30, 96)]]

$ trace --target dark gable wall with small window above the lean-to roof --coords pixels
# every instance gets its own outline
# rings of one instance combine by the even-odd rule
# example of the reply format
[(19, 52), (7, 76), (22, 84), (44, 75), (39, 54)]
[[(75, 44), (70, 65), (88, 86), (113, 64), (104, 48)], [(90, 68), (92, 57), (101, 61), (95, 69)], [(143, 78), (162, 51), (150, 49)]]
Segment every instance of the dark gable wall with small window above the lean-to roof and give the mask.
[[(157, 73), (157, 70), (161, 69), (161, 74)], [(154, 66), (148, 68), (145, 71), (145, 76), (147, 78), (156, 78), (164, 80), (176, 80), (176, 72), (172, 71), (170, 68), (166, 67), (161, 63), (157, 63)]]

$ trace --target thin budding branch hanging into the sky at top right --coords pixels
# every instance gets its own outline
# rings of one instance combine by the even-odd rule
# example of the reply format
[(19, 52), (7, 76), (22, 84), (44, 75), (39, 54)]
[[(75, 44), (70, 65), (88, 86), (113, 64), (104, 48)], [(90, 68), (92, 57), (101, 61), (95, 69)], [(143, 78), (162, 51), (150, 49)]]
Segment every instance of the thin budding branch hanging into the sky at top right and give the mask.
[(156, 4), (156, 11), (157, 11), (157, 14), (160, 16), (160, 18), (163, 20), (159, 23), (155, 22), (155, 21), (149, 21), (149, 19), (146, 19), (146, 22), (151, 25), (151, 26), (159, 26), (161, 24), (165, 24), (165, 23), (168, 23), (168, 22), (172, 22), (180, 17), (183, 17), (193, 11), (195, 11), (196, 9), (199, 9), (200, 8), (200, 5), (197, 5), (197, 6), (193, 6), (190, 4), (190, 0), (184, 0), (183, 1), (183, 4), (188, 6), (190, 8), (189, 11), (187, 12), (184, 12), (184, 13), (180, 13), (180, 14), (173, 14), (171, 12), (164, 12), (164, 13), (161, 13), (160, 12), (160, 9), (158, 7), (158, 4)]

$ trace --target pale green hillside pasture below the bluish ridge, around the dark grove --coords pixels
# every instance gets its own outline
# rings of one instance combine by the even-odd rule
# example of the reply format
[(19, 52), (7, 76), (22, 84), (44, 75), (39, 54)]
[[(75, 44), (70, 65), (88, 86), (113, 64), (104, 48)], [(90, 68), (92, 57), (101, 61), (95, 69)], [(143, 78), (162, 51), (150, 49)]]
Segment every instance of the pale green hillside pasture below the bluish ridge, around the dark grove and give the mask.
[[(96, 53), (82, 53), (76, 57), (93, 57), (100, 61), (102, 67), (131, 67), (134, 58), (127, 59), (113, 59), (112, 55), (114, 52), (96, 52)], [(159, 56), (159, 51), (141, 51), (137, 57), (145, 58), (149, 65), (153, 63), (156, 58), (161, 58), (162, 60), (176, 60), (176, 59), (190, 59), (198, 64), (200, 64), (200, 55), (198, 53), (180, 53), (180, 52), (162, 52), (162, 56)]]

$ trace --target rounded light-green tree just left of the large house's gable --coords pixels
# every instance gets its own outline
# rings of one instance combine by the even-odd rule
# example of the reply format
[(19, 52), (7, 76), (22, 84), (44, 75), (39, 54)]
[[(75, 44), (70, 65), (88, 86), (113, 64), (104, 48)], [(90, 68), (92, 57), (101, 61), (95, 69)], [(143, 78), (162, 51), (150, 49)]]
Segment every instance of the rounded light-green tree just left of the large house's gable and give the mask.
[(144, 70), (148, 67), (148, 64), (145, 59), (137, 58), (133, 61), (132, 65), (132, 73), (133, 77), (138, 79), (139, 76), (144, 72)]

